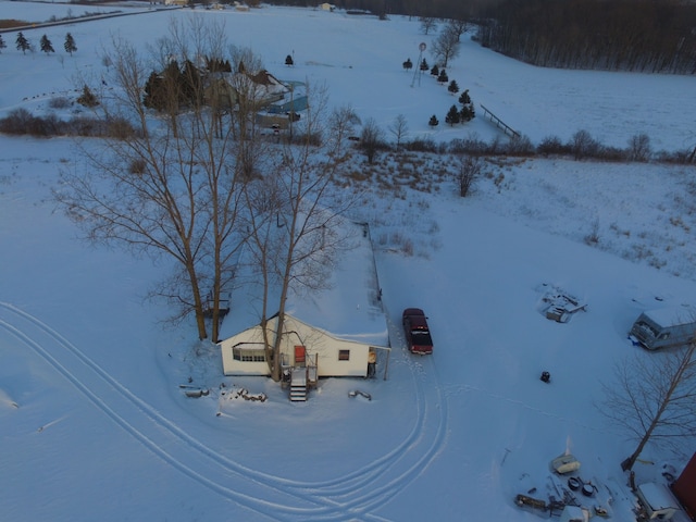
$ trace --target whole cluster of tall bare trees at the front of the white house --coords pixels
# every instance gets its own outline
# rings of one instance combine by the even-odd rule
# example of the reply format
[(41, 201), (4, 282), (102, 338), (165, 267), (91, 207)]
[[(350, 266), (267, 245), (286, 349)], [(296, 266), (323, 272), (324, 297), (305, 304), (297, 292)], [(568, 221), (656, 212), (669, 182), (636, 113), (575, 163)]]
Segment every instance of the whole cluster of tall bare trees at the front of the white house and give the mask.
[[(251, 50), (226, 44), (222, 26), (173, 21), (151, 53), (144, 58), (114, 40), (110, 97), (95, 110), (129, 122), (133, 132), (82, 147), (86, 164), (61, 172), (55, 199), (88, 240), (169, 260), (171, 271), (152, 295), (176, 304), (173, 320), (192, 314), (200, 339), (219, 340), (221, 296), (240, 272), (250, 273), (261, 291), (245, 306), (259, 312), (266, 361), (278, 380), (285, 302), (325, 284), (341, 244), (336, 223), (349, 202), (333, 200), (332, 211), (324, 203), (355, 113), (335, 111), (327, 127), (325, 92), (310, 89), (312, 103), (293, 139), (269, 142), (246, 75), (231, 79), (231, 107), (211, 96), (214, 75), (186, 65), (208, 57), (229, 60), (235, 71), (261, 69)], [(157, 100), (149, 108), (144, 89), (152, 63), (158, 94), (146, 94)]]

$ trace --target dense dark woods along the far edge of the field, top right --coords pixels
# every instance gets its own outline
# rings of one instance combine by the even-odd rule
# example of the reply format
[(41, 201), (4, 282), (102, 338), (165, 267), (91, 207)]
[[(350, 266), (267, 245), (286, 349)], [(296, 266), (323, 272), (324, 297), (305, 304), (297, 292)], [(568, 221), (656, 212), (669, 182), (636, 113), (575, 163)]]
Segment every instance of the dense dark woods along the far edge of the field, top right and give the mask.
[(696, 73), (696, 4), (505, 0), (480, 21), (485, 47), (542, 66)]

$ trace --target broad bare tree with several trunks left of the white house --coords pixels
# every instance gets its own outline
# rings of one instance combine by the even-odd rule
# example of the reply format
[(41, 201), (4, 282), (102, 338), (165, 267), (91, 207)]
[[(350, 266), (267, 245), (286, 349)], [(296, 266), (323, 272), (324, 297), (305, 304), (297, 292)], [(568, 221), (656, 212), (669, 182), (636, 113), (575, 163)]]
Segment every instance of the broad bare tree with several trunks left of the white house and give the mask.
[[(147, 60), (129, 44), (113, 41), (113, 95), (98, 110), (107, 122), (126, 122), (129, 132), (82, 146), (86, 166), (63, 171), (54, 196), (88, 240), (173, 261), (152, 293), (177, 306), (173, 320), (192, 312), (201, 339), (210, 313), (217, 340), (220, 293), (244, 240), (244, 166), (232, 126), (219, 128), (217, 110), (210, 107), (216, 101), (204, 101), (206, 82), (194, 66), (200, 57), (221, 55), (224, 28), (200, 20), (172, 22)], [(142, 99), (146, 79), (151, 67), (172, 67), (174, 57), (185, 66), (161, 85), (165, 99), (153, 117)]]

